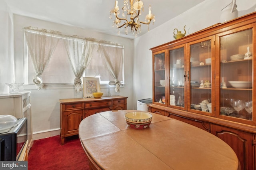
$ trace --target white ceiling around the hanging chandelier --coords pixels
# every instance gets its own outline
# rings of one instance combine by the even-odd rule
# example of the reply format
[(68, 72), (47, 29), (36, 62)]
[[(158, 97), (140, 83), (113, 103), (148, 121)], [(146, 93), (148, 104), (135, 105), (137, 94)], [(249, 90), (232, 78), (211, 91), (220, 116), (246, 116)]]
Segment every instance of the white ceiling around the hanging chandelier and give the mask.
[[(113, 19), (109, 19), (110, 10), (114, 8), (115, 0), (5, 0), (10, 11), (14, 14), (28, 16), (40, 20), (55, 22), (69, 26), (93, 30), (110, 35), (117, 35), (118, 29), (112, 28)], [(144, 12), (140, 20), (144, 21), (151, 4), (152, 14), (156, 22), (150, 24), (150, 30), (168, 20), (189, 10), (204, 0), (144, 0)], [(121, 9), (123, 1), (118, 1)], [(122, 12), (122, 10), (120, 10)], [(120, 14), (121, 15), (121, 14)], [(147, 32), (148, 26), (142, 24), (142, 35)], [(57, 30), (58, 31), (58, 30)], [(120, 36), (134, 39), (128, 30), (120, 28)]]

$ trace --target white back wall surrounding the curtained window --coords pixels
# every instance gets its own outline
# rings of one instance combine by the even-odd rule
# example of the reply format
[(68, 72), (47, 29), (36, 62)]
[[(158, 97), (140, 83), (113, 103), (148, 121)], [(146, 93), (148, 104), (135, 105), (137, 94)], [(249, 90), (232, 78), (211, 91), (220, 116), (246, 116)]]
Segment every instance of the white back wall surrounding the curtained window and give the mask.
[[(6, 19), (2, 20), (6, 22)], [(2, 24), (0, 24), (2, 25)], [(134, 54), (133, 40), (120, 38), (118, 36), (109, 36), (106, 34), (87, 31), (81, 28), (72, 26), (65, 26), (61, 24), (46, 22), (37, 20), (34, 18), (28, 18), (25, 16), (14, 15), (13, 16), (13, 28), (14, 28), (14, 57), (15, 57), (15, 72), (16, 82), (24, 82), (24, 37), (23, 27), (32, 26), (38, 28), (45, 28), (48, 30), (56, 30), (67, 35), (77, 35), (80, 37), (91, 37), (96, 40), (106, 40), (110, 42), (118, 42), (124, 45), (124, 87), (121, 88), (120, 93), (116, 93), (114, 88), (111, 89), (112, 95), (122, 95), (128, 97), (127, 108), (133, 108), (133, 79), (132, 79), (132, 58)], [(7, 29), (6, 29), (7, 30)], [(6, 32), (6, 31), (5, 31)], [(10, 37), (10, 36), (8, 36)], [(8, 46), (8, 45), (6, 45)], [(4, 46), (3, 46), (4, 47)], [(8, 55), (2, 55), (4, 59), (8, 59)], [(58, 67), (58, 66), (57, 66)], [(1, 68), (4, 71), (11, 71), (7, 65), (1, 63)], [(6, 73), (5, 72), (5, 73)], [(12, 77), (11, 74), (6, 74), (4, 77)], [(9, 79), (8, 81), (12, 81)], [(2, 81), (1, 81), (2, 82)], [(6, 85), (4, 86), (6, 88)], [(0, 88), (2, 89), (2, 88)], [(24, 85), (20, 88), (20, 91), (31, 91), (31, 109), (32, 109), (32, 128), (34, 133), (34, 139), (45, 138), (59, 134), (60, 128), (60, 103), (59, 99), (68, 98), (82, 98), (83, 93), (75, 93), (74, 86), (47, 86), (46, 89), (37, 90), (34, 85)], [(104, 96), (108, 94), (108, 89), (101, 89), (104, 92)]]

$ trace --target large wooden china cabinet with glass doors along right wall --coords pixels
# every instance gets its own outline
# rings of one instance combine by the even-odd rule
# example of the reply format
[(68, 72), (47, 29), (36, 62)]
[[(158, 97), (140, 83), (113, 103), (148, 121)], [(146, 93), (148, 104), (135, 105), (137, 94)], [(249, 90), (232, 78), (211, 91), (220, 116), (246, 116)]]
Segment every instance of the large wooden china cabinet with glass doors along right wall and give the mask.
[(255, 49), (256, 12), (151, 48), (149, 110), (218, 136), (255, 169)]

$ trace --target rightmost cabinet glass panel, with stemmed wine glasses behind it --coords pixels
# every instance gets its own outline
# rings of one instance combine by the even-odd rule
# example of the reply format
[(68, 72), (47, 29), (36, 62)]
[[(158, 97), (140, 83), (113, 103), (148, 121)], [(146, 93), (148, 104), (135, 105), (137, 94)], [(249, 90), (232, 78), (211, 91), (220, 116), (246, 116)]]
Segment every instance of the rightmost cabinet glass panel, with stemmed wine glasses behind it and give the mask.
[(220, 114), (252, 120), (252, 29), (220, 37)]

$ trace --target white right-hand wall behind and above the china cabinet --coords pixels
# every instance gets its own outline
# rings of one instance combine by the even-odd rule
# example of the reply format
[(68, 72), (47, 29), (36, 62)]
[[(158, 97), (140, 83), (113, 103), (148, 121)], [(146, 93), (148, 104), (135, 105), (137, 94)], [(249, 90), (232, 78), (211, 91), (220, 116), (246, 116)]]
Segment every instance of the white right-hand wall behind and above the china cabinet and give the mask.
[[(239, 11), (239, 6), (237, 8), (238, 17), (254, 12), (255, 0), (246, 1), (248, 3), (244, 3), (244, 0), (236, 0), (237, 4), (242, 3), (240, 5), (242, 11)], [(134, 105), (138, 99), (152, 98), (152, 51), (150, 48), (175, 40), (174, 28), (184, 33), (183, 27), (186, 25), (186, 35), (189, 35), (219, 23), (224, 4), (230, 2), (231, 0), (205, 0), (161, 26), (154, 28), (150, 25), (150, 28), (154, 28), (153, 30), (134, 40)]]

